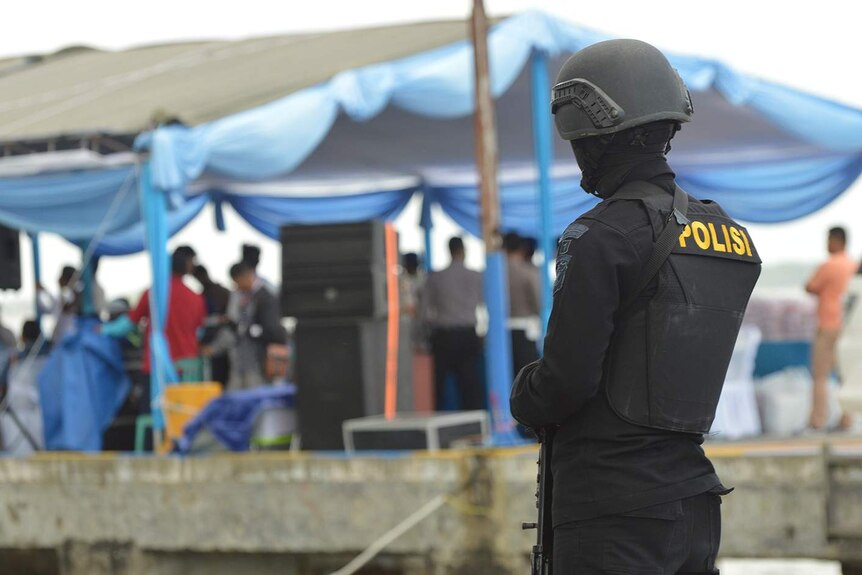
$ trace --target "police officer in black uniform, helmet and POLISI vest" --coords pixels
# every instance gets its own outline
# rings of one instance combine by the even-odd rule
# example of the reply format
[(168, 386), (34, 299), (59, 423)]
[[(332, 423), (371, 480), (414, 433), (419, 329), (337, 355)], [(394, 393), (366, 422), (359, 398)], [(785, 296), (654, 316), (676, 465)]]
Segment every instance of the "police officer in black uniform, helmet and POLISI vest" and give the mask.
[(667, 59), (601, 42), (563, 65), (551, 103), (581, 186), (602, 198), (562, 235), (544, 356), (514, 417), (559, 426), (554, 572), (718, 573), (726, 489), (701, 447), (760, 274), (745, 228), (679, 189), (670, 141), (692, 118)]

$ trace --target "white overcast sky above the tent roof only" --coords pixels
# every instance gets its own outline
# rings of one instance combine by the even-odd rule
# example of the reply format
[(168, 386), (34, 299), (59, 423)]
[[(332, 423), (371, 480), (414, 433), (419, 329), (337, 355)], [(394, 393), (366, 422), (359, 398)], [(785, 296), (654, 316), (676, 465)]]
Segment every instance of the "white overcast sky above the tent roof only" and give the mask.
[[(470, 0), (28, 0), (0, 18), (0, 55), (86, 44), (241, 38), (466, 18)], [(793, 5), (791, 5), (793, 4)], [(492, 15), (542, 9), (622, 37), (724, 60), (759, 76), (862, 106), (858, 3), (488, 0)]]

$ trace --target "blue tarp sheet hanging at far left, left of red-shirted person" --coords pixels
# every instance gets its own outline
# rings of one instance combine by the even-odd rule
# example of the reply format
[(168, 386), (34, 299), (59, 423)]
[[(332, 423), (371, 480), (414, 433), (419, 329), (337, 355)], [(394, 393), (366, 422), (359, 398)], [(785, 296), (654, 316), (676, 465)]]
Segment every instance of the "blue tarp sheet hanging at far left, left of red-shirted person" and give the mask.
[(97, 324), (79, 320), (39, 373), (46, 449), (101, 450), (102, 433), (129, 393), (120, 343), (96, 333)]

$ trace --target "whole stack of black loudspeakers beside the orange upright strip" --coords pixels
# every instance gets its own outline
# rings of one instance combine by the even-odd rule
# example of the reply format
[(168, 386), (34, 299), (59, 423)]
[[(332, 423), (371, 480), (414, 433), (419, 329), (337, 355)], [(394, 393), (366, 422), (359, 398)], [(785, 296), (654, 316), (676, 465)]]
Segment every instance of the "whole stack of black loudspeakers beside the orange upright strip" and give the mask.
[[(342, 424), (384, 412), (386, 231), (380, 221), (281, 229), (281, 308), (295, 317), (303, 449), (344, 449)], [(409, 329), (399, 329), (397, 406), (412, 410)]]

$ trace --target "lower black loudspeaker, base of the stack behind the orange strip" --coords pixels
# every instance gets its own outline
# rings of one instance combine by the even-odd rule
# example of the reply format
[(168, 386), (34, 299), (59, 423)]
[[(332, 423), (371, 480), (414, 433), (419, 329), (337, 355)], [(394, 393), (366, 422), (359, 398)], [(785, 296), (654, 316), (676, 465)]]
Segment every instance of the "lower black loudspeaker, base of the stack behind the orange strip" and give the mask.
[[(409, 326), (399, 326), (398, 411), (413, 410)], [(300, 319), (294, 341), (302, 448), (344, 449), (345, 420), (384, 412), (386, 319)]]

